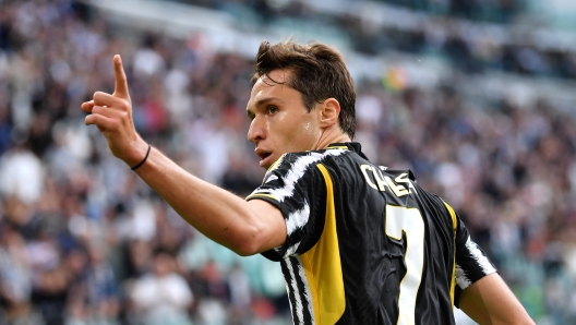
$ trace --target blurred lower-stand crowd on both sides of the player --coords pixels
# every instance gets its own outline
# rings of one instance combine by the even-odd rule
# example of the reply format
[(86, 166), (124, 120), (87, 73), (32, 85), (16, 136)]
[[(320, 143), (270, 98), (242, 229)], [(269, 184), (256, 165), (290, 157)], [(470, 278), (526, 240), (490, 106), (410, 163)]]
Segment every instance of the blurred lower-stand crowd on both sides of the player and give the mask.
[[(84, 125), (116, 53), (145, 140), (240, 196), (261, 182), (250, 60), (83, 2), (0, 1), (0, 324), (289, 324), (278, 265), (200, 234)], [(575, 322), (576, 117), (479, 107), (449, 85), (357, 86), (371, 160), (448, 201), (539, 324)]]

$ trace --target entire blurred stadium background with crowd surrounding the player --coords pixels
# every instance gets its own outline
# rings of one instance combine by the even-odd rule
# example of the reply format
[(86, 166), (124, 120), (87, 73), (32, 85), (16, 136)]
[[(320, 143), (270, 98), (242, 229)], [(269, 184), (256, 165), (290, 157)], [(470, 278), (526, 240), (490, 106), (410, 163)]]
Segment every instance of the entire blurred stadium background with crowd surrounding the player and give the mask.
[(345, 55), (371, 160), (448, 201), (538, 324), (575, 324), (571, 0), (0, 0), (0, 324), (290, 324), (279, 266), (183, 222), (80, 109), (122, 55), (142, 136), (244, 196), (253, 57), (289, 36)]

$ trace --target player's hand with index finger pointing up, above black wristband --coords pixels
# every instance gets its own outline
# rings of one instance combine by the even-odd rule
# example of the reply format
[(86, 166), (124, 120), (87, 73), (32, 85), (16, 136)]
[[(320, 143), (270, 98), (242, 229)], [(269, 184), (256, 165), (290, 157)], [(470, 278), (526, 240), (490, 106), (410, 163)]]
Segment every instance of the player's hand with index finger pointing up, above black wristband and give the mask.
[(112, 154), (129, 166), (142, 161), (148, 145), (140, 137), (132, 118), (132, 103), (128, 93), (128, 82), (120, 56), (113, 57), (115, 92), (94, 93), (92, 100), (82, 104), (82, 110), (88, 112), (84, 122), (94, 124), (104, 134)]

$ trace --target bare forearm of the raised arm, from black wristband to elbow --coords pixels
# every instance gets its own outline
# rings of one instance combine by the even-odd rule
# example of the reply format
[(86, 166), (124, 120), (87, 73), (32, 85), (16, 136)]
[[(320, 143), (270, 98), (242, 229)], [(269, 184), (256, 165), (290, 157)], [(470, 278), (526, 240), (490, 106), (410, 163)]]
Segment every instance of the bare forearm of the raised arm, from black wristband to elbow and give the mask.
[(247, 253), (245, 238), (260, 233), (244, 200), (190, 174), (156, 148), (135, 172), (190, 225), (239, 254)]

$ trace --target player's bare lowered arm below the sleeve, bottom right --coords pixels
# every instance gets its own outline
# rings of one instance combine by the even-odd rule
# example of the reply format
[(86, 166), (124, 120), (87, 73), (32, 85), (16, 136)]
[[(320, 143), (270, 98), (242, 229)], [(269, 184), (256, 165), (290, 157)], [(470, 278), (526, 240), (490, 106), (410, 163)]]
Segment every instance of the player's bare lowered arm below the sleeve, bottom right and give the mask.
[(497, 273), (461, 291), (459, 308), (478, 324), (535, 324)]

